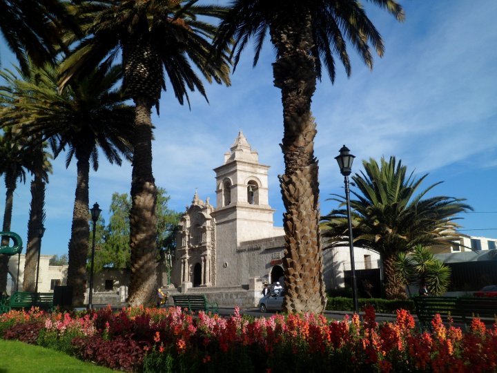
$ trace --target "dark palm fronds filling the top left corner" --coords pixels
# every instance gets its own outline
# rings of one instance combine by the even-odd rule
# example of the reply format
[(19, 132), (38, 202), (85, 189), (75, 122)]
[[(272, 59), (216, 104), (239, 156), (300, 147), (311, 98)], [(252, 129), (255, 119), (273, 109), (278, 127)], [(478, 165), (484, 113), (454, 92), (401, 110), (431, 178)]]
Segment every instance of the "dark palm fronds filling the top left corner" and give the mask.
[(64, 28), (79, 34), (67, 4), (60, 0), (0, 0), (0, 32), (25, 73), (30, 68), (28, 56), (42, 66), (52, 61), (59, 48), (65, 48)]

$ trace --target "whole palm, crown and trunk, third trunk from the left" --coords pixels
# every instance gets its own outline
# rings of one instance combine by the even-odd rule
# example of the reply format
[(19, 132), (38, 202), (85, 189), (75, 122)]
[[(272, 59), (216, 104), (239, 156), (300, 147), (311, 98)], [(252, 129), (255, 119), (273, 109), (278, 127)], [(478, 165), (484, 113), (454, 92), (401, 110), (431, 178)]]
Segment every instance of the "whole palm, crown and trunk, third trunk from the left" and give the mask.
[[(124, 104), (121, 90), (113, 89), (122, 77), (121, 68), (102, 66), (84, 78), (74, 79), (57, 92), (59, 71), (46, 65), (37, 69), (37, 83), (17, 82), (17, 102), (11, 121), (23, 123), (24, 136), (48, 139), (55, 157), (66, 150), (66, 166), (77, 160), (77, 185), (69, 241), (68, 285), (75, 305), (84, 302), (88, 254), (88, 181), (90, 161), (98, 169), (98, 149), (110, 163), (132, 156), (133, 108)], [(29, 119), (28, 119), (29, 118)]]

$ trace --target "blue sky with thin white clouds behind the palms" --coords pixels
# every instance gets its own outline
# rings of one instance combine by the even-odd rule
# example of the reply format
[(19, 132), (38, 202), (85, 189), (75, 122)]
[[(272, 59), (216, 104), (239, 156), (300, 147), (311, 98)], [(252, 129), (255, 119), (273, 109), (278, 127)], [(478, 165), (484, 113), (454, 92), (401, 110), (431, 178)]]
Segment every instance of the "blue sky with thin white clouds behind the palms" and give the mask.
[[(332, 85), (327, 77), (313, 97), (318, 124), (315, 155), (320, 164), (321, 212), (343, 192), (343, 178), (333, 159), (346, 144), (362, 160), (395, 155), (417, 175), (429, 173), (425, 187), (438, 181), (433, 194), (467, 198), (475, 213), (462, 216), (464, 233), (497, 238), (497, 1), (401, 1), (406, 20), (367, 7), (382, 34), (386, 52), (369, 71), (349, 50), (352, 75), (338, 66)], [(268, 38), (269, 41), (269, 38)], [(2, 67), (12, 57), (1, 46)], [(153, 171), (156, 184), (170, 194), (170, 208), (184, 211), (195, 188), (200, 198), (215, 201), (215, 173), (237, 132), (242, 129), (260, 162), (269, 170), (269, 203), (275, 225), (284, 211), (277, 175), (283, 173), (280, 151), (282, 106), (273, 87), (271, 44), (252, 68), (253, 47), (246, 48), (232, 86), (207, 86), (210, 104), (191, 94), (191, 111), (172, 93), (163, 93), (161, 116), (153, 116)], [(42, 254), (66, 254), (76, 185), (75, 163), (68, 169), (64, 155), (53, 162), (47, 186), (46, 233)], [(90, 206), (104, 210), (113, 192), (129, 193), (130, 164), (111, 166), (100, 159), (90, 173)], [(1, 183), (0, 193), (5, 195)], [(12, 231), (27, 236), (29, 184), (14, 195)], [(0, 200), (0, 209), (5, 206)], [(471, 229), (471, 230), (468, 230)]]

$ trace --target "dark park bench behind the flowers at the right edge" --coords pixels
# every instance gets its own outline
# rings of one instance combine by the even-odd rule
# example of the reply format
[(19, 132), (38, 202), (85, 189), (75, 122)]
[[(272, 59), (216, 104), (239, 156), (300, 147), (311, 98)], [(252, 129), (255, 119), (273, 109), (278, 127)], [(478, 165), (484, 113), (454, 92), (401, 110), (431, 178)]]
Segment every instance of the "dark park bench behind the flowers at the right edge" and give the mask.
[(431, 326), (431, 320), (436, 314), (440, 314), (445, 322), (450, 317), (456, 325), (469, 325), (476, 317), (492, 325), (497, 314), (496, 298), (416, 296), (413, 300), (422, 329)]

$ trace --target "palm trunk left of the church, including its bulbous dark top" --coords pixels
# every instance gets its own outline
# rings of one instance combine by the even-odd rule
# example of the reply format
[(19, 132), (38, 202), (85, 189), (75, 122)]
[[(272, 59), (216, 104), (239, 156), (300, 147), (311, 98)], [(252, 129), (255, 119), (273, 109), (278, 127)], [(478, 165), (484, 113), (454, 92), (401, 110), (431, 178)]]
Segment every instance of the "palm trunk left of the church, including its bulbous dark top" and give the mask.
[(155, 304), (157, 292), (157, 188), (152, 172), (151, 108), (157, 102), (162, 66), (146, 41), (123, 49), (124, 82), (135, 102), (133, 175), (131, 180), (130, 250), (131, 276), (128, 303)]

